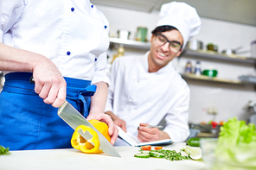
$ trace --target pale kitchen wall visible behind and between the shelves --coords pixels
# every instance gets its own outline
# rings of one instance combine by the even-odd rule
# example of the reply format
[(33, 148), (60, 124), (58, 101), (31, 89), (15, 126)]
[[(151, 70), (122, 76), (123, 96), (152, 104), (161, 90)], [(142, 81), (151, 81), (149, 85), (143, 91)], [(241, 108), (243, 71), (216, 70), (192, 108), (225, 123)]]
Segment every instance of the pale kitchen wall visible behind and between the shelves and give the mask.
[[(138, 27), (147, 27), (148, 39), (150, 31), (155, 28), (158, 11), (145, 13), (129, 9), (117, 9), (106, 6), (97, 6), (108, 18), (110, 22), (110, 35), (117, 37), (118, 29), (128, 29), (131, 31), (130, 39), (134, 39)], [(199, 35), (194, 39), (208, 43), (217, 44), (219, 52), (225, 48), (243, 48), (240, 51), (250, 50), (250, 43), (256, 40), (256, 27), (243, 25), (234, 22), (223, 22), (208, 18), (202, 19), (202, 28)], [(144, 54), (145, 50), (134, 50), (125, 48), (125, 55)], [(109, 51), (110, 57), (116, 51)], [(250, 56), (250, 53), (243, 54)], [(195, 60), (191, 57), (182, 56), (178, 60), (173, 60), (173, 66), (178, 67), (182, 72), (186, 62), (191, 60), (195, 66)], [(201, 60), (201, 59), (200, 59)], [(240, 75), (255, 74), (253, 64), (241, 64), (231, 61), (221, 60), (201, 60), (202, 70), (214, 67), (218, 70), (218, 77), (223, 79), (237, 79)], [(198, 80), (187, 80), (191, 91), (189, 122), (200, 123), (211, 120), (220, 122), (227, 121), (229, 117), (237, 116), (239, 119), (247, 120), (250, 114), (245, 106), (249, 100), (256, 100), (256, 91), (253, 85), (230, 85), (221, 83), (209, 83)], [(208, 115), (207, 110), (214, 107), (217, 115)]]

